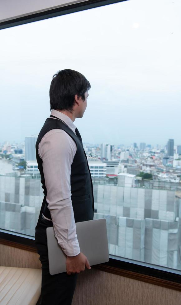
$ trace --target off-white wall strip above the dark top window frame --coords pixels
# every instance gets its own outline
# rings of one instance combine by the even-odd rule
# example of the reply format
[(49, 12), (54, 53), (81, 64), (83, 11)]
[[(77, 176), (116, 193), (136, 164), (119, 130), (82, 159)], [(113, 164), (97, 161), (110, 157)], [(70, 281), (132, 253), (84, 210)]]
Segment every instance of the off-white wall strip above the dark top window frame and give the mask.
[(86, 0), (0, 0), (0, 22)]

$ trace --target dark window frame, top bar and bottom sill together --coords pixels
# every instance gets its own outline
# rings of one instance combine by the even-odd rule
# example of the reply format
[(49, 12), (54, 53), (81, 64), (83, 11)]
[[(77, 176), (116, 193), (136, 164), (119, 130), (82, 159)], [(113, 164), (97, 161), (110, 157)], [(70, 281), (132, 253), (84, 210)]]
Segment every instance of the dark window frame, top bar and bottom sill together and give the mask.
[[(2, 21), (0, 22), (0, 30), (123, 1), (128, 0), (88, 0), (78, 2), (8, 21)], [(13, 231), (0, 229), (0, 244), (37, 253), (34, 237)], [(93, 268), (181, 291), (180, 270), (169, 269), (113, 255), (110, 255), (109, 262), (94, 265)]]

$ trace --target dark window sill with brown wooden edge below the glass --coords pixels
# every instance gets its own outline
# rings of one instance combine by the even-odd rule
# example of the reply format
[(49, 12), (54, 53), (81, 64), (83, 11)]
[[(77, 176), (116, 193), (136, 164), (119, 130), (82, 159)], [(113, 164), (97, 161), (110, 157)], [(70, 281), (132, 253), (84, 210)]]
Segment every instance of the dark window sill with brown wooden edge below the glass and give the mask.
[[(0, 244), (37, 253), (35, 238), (16, 232), (1, 229)], [(112, 255), (110, 255), (110, 260), (107, 263), (93, 265), (92, 268), (143, 281), (149, 284), (166, 287), (168, 289), (181, 291), (181, 271), (179, 270), (151, 265)]]

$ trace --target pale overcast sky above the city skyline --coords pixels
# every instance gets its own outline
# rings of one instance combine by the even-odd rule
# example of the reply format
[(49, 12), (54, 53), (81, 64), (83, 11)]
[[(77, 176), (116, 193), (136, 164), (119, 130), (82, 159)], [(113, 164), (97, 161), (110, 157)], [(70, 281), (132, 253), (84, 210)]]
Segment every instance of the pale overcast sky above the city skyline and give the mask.
[(0, 142), (38, 134), (53, 74), (91, 83), (83, 142), (181, 144), (181, 2), (134, 0), (0, 31)]

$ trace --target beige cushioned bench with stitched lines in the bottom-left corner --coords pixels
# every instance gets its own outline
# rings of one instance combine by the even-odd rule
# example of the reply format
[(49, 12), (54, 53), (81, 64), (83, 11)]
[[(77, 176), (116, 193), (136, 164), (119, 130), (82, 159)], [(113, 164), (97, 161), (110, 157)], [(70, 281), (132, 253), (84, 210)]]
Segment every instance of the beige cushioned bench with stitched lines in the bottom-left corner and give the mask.
[(0, 267), (0, 304), (35, 305), (41, 294), (41, 269)]

